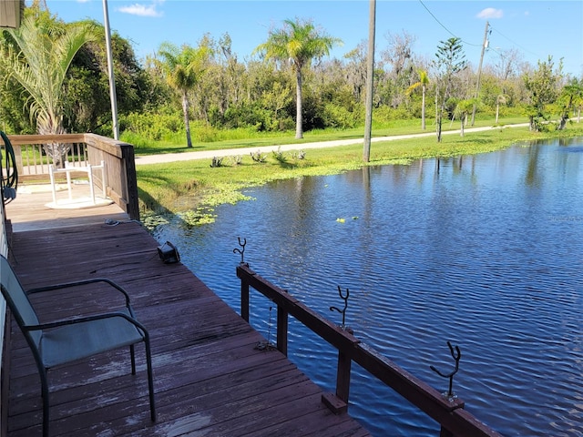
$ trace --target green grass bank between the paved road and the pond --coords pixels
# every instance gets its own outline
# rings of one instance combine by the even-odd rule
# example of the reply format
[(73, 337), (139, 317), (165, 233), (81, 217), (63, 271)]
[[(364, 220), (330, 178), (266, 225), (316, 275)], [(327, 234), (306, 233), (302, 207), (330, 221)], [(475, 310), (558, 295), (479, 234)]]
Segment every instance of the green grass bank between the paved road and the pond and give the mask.
[(583, 126), (573, 125), (554, 133), (532, 133), (527, 127), (500, 128), (467, 133), (465, 137), (445, 135), (441, 143), (435, 137), (384, 141), (372, 144), (368, 164), (363, 163), (363, 147), (357, 145), (310, 149), (304, 159), (293, 158), (292, 152), (286, 152), (283, 160), (268, 155), (265, 163), (254, 162), (246, 156), (236, 165), (225, 158), (223, 167), (219, 168), (211, 168), (208, 159), (139, 166), (139, 198), (146, 217), (151, 211), (179, 213), (187, 223), (198, 224), (212, 219), (213, 207), (246, 199), (241, 194), (242, 188), (272, 180), (336, 174), (364, 165), (406, 164), (418, 158), (485, 153), (519, 141), (576, 136), (583, 136)]

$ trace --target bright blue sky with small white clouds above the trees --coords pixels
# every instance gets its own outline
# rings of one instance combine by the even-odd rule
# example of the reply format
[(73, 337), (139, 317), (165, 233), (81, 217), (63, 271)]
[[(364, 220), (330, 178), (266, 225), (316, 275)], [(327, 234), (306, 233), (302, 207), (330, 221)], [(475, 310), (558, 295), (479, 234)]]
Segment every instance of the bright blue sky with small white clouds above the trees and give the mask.
[[(46, 0), (65, 21), (92, 18), (103, 23), (102, 0)], [(311, 19), (330, 36), (343, 40), (332, 56), (342, 58), (368, 37), (368, 0), (108, 0), (112, 30), (128, 38), (138, 58), (153, 54), (163, 41), (196, 46), (209, 33), (228, 32), (239, 59), (251, 57), (272, 27), (287, 18)], [(465, 56), (479, 62), (486, 20), (492, 33), (484, 65), (498, 53), (517, 49), (533, 66), (552, 55), (563, 58), (564, 71), (583, 76), (583, 1), (377, 0), (376, 46), (403, 31), (415, 37), (414, 52), (433, 58), (440, 41), (458, 36)]]

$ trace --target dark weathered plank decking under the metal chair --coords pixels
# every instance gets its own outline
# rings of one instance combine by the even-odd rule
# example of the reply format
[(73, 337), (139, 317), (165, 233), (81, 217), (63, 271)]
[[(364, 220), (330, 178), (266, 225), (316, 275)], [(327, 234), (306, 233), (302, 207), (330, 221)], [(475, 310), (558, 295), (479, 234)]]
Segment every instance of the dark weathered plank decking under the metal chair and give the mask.
[[(15, 205), (7, 216), (17, 220)], [(149, 421), (138, 347), (135, 376), (125, 350), (49, 371), (51, 435), (369, 435), (349, 415), (332, 414), (321, 390), (279, 351), (256, 350), (261, 335), (182, 264), (162, 263), (157, 246), (136, 222), (108, 226), (102, 219), (13, 235), (11, 262), (25, 288), (114, 279), (152, 337), (158, 422)], [(44, 317), (61, 317), (111, 303), (99, 298), (55, 293), (34, 302)], [(14, 323), (12, 330), (8, 436), (40, 435), (36, 366)]]

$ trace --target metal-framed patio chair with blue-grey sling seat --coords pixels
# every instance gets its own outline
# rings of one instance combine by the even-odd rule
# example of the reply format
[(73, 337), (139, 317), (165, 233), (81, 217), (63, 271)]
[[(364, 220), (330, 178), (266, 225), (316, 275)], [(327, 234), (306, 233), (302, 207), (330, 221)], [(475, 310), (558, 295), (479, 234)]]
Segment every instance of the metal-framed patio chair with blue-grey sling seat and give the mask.
[[(35, 357), (41, 379), (43, 398), (43, 436), (48, 437), (49, 400), (47, 371), (70, 361), (77, 361), (100, 352), (129, 346), (131, 372), (136, 374), (134, 345), (144, 341), (148, 366), (149, 408), (156, 422), (154, 380), (148, 330), (136, 320), (128, 293), (109, 279), (86, 279), (25, 291), (5, 257), (0, 255), (2, 295), (12, 311)], [(103, 282), (124, 295), (125, 307), (116, 312), (40, 323), (28, 295), (50, 290)]]

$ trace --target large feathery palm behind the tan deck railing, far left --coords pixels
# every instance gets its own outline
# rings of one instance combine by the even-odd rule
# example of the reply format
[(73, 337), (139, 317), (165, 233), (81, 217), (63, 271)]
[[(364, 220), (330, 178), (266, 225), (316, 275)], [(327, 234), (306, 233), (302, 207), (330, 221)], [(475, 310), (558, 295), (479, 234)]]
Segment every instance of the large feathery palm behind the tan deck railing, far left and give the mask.
[[(0, 62), (26, 90), (38, 134), (65, 133), (63, 82), (77, 51), (97, 39), (95, 29), (91, 22), (65, 24), (48, 11), (31, 7), (20, 27), (7, 30), (10, 37), (0, 41), (5, 55)], [(45, 146), (56, 165), (62, 165), (69, 148), (65, 144)]]

